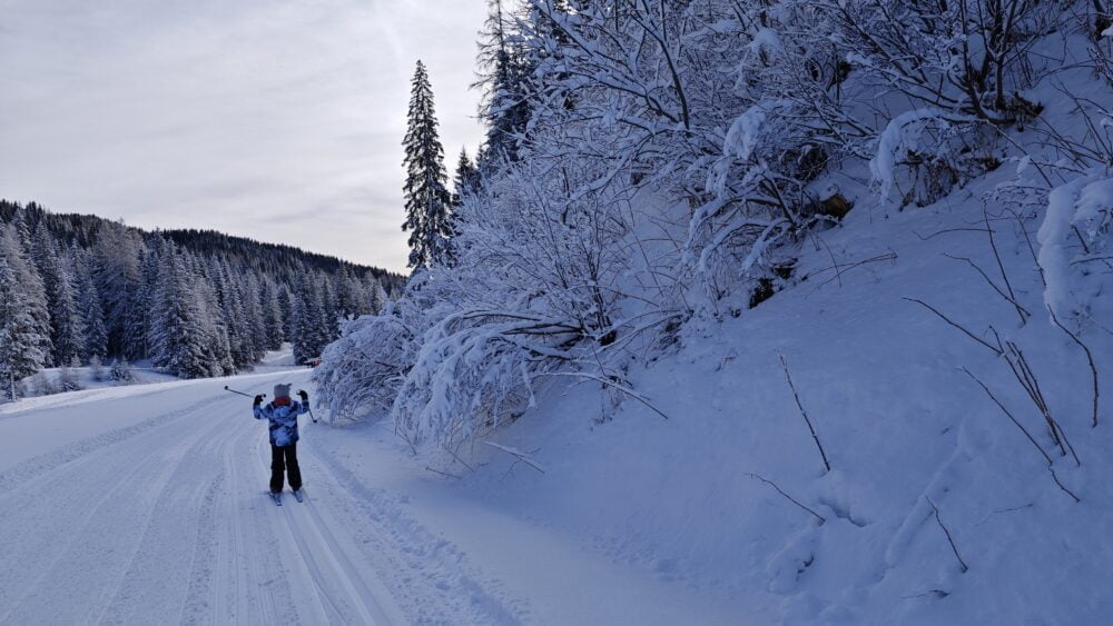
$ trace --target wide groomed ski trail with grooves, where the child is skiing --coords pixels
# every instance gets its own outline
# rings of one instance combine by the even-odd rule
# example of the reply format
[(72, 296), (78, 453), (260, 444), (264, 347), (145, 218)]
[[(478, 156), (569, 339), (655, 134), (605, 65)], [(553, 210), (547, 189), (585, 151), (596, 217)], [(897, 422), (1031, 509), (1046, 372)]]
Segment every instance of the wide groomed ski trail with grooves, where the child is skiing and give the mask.
[[(314, 450), (308, 419), (305, 503), (266, 497), (266, 429), (223, 386), (269, 395), (305, 377), (92, 390), (0, 414), (0, 624), (400, 624), (479, 617), (461, 598), (495, 608), (463, 572), (439, 579), (465, 593), (421, 594), (429, 573), (408, 555), (437, 546), (371, 510), (373, 494)], [(118, 426), (90, 430), (98, 420)], [(403, 610), (407, 594), (421, 606), (401, 597)]]

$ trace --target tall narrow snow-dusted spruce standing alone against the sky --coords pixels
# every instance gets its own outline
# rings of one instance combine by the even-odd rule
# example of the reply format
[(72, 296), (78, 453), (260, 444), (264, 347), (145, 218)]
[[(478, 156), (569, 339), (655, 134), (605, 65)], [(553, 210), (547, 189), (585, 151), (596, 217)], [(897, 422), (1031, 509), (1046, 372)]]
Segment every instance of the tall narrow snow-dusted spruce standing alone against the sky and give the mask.
[(408, 126), (403, 141), (406, 221), (402, 230), (411, 231), (410, 267), (417, 270), (447, 260), (452, 199), (445, 187), (447, 175), (433, 108), (433, 89), (421, 61), (417, 61), (412, 85)]

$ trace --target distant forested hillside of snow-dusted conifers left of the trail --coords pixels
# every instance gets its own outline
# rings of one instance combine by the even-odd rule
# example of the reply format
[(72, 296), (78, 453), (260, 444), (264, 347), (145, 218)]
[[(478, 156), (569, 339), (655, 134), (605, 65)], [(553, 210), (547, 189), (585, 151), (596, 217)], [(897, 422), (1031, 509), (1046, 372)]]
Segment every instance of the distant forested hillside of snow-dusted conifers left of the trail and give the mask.
[(284, 341), (315, 357), (402, 278), (211, 231), (154, 231), (0, 201), (0, 374), (149, 359), (183, 378), (249, 369)]

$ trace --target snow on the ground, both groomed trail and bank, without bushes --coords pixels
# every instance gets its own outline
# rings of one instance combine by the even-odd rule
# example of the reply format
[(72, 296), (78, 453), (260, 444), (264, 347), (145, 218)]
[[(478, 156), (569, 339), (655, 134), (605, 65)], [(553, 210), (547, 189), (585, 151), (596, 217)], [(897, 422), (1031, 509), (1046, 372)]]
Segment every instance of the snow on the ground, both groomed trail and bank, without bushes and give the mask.
[[(1040, 317), (1018, 326), (944, 256), (994, 262), (951, 200), (874, 223), (851, 212), (824, 233), (840, 264), (896, 261), (824, 282), (827, 249), (808, 251), (809, 280), (721, 327), (697, 320), (633, 366), (632, 388), (669, 419), (632, 399), (607, 409), (594, 381), (534, 381), (536, 408), (469, 450), (472, 469), (413, 456), (390, 424), (305, 424), (307, 500), (274, 507), (265, 429), (223, 386), (306, 386), (304, 368), (6, 405), (0, 560), (21, 568), (0, 570), (0, 622), (1101, 623), (1113, 435), (1087, 424), (1068, 339)], [(1035, 310), (1021, 233), (997, 237)], [(957, 369), (1051, 449), (1007, 368), (906, 297), (1023, 347), (1082, 459), (1054, 456), (1082, 503)], [(1056, 563), (1068, 572), (1047, 577)]]

